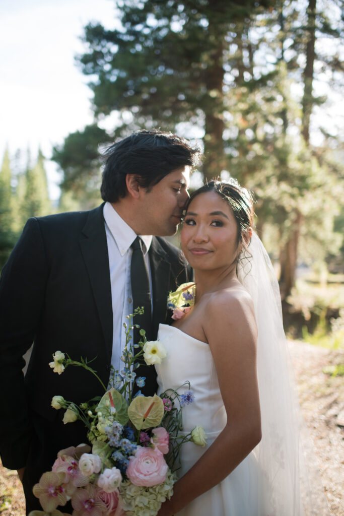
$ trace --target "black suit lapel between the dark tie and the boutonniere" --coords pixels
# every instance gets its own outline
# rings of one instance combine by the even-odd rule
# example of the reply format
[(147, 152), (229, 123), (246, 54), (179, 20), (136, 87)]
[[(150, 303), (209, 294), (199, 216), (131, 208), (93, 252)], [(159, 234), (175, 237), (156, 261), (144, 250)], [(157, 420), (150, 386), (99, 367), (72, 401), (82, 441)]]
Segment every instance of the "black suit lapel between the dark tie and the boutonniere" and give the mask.
[(167, 253), (154, 236), (149, 255), (153, 286), (153, 337), (156, 338), (159, 323), (166, 320), (171, 265)]

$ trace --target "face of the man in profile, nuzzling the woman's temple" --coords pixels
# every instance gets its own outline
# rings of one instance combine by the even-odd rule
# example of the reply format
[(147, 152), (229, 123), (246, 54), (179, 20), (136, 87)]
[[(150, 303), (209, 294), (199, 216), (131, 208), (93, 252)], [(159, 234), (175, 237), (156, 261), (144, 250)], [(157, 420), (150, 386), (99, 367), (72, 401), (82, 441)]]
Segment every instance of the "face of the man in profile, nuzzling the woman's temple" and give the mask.
[(182, 220), (183, 207), (189, 197), (190, 167), (173, 170), (159, 183), (143, 193), (140, 212), (145, 229), (141, 234), (174, 235)]

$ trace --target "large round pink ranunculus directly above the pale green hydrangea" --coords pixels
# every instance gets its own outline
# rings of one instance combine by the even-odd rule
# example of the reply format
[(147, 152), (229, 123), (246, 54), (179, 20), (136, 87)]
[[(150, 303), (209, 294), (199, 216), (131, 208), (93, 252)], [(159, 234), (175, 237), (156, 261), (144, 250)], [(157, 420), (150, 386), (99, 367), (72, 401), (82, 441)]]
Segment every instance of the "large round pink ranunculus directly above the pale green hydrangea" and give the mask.
[(165, 481), (167, 470), (160, 450), (138, 446), (135, 456), (129, 458), (126, 474), (135, 486), (150, 487)]

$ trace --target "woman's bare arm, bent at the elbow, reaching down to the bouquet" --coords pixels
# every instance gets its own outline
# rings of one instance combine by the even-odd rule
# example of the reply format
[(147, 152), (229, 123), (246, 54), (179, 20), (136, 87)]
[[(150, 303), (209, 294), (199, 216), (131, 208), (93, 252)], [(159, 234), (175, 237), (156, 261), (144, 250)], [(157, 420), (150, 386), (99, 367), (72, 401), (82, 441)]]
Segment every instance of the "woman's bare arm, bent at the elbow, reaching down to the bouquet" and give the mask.
[[(261, 439), (256, 373), (256, 325), (251, 301), (216, 296), (204, 332), (216, 365), (227, 424), (204, 455), (174, 485), (158, 516), (177, 513), (229, 475)], [(183, 447), (182, 452), (183, 454)]]

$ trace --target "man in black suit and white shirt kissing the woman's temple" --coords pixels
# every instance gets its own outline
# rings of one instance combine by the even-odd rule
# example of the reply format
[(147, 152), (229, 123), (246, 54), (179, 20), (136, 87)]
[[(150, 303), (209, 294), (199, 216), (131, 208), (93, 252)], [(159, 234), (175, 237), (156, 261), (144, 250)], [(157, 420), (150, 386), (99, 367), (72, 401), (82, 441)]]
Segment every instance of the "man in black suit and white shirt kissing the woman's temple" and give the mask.
[[(138, 131), (114, 143), (105, 158), (105, 203), (29, 219), (0, 279), (0, 453), (5, 467), (19, 470), (27, 513), (39, 508), (32, 485), (51, 470), (57, 452), (86, 442), (83, 423), (63, 425), (52, 397), (80, 404), (103, 394), (83, 368), (54, 374), (53, 353), (95, 358), (92, 367), (107, 385), (110, 365), (120, 367), (125, 316), (136, 308), (141, 273), (134, 253), (148, 272), (150, 340), (166, 321), (168, 292), (191, 280), (178, 250), (161, 236), (173, 235), (181, 221), (199, 150), (171, 133)], [(24, 378), (22, 357), (32, 342)], [(153, 394), (154, 368), (143, 376), (144, 394)]]

